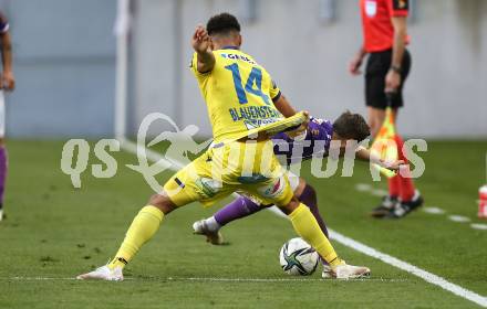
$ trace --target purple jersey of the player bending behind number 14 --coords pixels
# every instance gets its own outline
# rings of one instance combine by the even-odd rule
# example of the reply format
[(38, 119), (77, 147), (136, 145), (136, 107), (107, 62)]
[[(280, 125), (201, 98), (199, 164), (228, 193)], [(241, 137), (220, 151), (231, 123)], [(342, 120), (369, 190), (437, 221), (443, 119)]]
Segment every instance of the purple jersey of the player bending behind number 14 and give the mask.
[(272, 137), (274, 153), (286, 157), (287, 164), (293, 164), (312, 157), (324, 158), (330, 149), (333, 125), (328, 120), (311, 117), (304, 138), (292, 139), (281, 132)]

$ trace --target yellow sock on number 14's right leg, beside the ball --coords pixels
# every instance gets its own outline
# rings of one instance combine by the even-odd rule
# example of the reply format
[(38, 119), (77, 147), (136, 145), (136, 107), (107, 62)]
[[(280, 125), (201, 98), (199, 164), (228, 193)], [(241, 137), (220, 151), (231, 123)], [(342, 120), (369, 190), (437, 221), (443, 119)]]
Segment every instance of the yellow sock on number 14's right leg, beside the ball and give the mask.
[(307, 241), (330, 266), (338, 266), (343, 262), (338, 257), (330, 241), (323, 234), (317, 220), (304, 204), (300, 204), (290, 215), (294, 231)]

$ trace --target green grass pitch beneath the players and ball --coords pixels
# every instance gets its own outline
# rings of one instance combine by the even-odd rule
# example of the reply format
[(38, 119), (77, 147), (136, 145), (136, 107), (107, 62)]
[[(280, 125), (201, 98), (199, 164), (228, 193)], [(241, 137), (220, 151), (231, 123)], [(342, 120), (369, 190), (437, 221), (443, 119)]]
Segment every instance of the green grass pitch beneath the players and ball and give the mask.
[[(190, 226), (220, 205), (191, 204), (169, 215), (127, 266), (127, 280), (74, 280), (112, 257), (152, 192), (141, 174), (124, 167), (136, 163), (135, 156), (125, 152), (115, 154), (115, 178), (95, 179), (86, 171), (82, 189), (73, 189), (60, 170), (62, 145), (9, 142), (8, 219), (0, 223), (2, 309), (476, 307), (339, 244), (338, 253), (349, 263), (372, 269), (370, 280), (320, 280), (317, 271), (299, 281), (279, 281), (292, 279), (278, 262), (280, 246), (294, 236), (290, 223), (263, 211), (225, 227), (229, 245), (211, 246), (193, 235)], [(332, 228), (485, 296), (487, 231), (452, 222), (447, 215), (481, 223), (476, 199), (486, 181), (487, 142), (437, 141), (428, 148), (421, 153), (426, 172), (417, 183), (426, 206), (442, 207), (444, 215), (417, 211), (401, 221), (372, 220), (367, 212), (377, 198), (354, 189), (371, 183), (366, 164), (356, 163), (353, 178), (314, 179), (308, 168), (303, 175), (318, 189), (320, 210)], [(238, 278), (244, 280), (217, 280)], [(251, 278), (270, 280), (245, 280)]]

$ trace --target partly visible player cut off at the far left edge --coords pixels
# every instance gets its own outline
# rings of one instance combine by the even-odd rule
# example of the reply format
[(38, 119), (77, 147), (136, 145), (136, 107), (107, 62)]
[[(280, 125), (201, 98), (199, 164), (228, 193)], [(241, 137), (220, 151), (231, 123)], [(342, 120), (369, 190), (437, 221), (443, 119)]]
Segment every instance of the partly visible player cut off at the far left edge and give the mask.
[(6, 107), (3, 90), (13, 90), (15, 79), (12, 73), (12, 43), (9, 33), (9, 22), (0, 12), (0, 50), (3, 72), (0, 75), (0, 221), (3, 219), (3, 192), (7, 179), (7, 149), (4, 146), (6, 135)]

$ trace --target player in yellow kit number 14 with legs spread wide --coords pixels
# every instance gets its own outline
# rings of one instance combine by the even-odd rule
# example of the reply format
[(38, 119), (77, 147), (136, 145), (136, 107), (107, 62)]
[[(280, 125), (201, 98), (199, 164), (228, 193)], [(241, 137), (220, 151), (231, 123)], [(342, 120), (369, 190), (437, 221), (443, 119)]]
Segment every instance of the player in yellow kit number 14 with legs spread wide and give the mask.
[[(191, 71), (208, 107), (214, 145), (173, 175), (132, 222), (118, 252), (107, 265), (79, 279), (123, 280), (123, 268), (159, 228), (165, 216), (188, 203), (211, 205), (241, 191), (279, 206), (296, 232), (329, 263), (336, 278), (370, 274), (366, 267), (346, 265), (338, 257), (310, 210), (293, 195), (269, 136), (300, 127), (301, 113), (291, 110), (269, 73), (239, 50), (240, 24), (228, 13), (213, 17), (207, 29), (197, 26), (191, 44)], [(279, 113), (279, 110), (281, 113)]]

